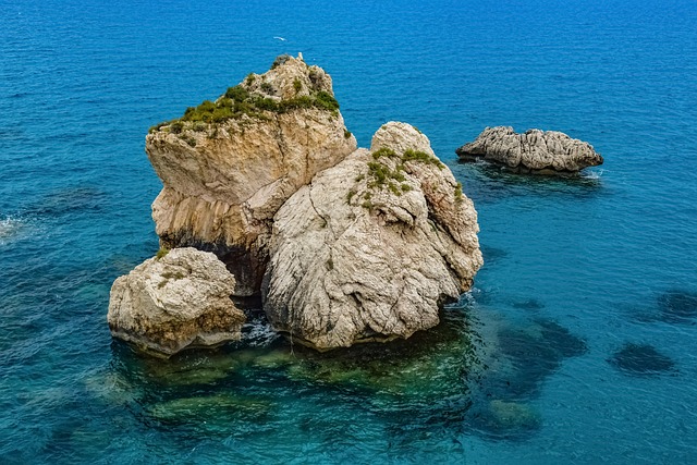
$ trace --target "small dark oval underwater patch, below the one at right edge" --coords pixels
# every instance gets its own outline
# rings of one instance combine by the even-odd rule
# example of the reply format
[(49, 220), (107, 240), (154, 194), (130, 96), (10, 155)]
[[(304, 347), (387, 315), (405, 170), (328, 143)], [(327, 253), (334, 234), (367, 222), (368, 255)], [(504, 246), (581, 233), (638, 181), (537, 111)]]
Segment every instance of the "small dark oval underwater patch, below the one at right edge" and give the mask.
[(637, 377), (677, 372), (675, 362), (649, 344), (626, 343), (608, 363), (625, 375)]

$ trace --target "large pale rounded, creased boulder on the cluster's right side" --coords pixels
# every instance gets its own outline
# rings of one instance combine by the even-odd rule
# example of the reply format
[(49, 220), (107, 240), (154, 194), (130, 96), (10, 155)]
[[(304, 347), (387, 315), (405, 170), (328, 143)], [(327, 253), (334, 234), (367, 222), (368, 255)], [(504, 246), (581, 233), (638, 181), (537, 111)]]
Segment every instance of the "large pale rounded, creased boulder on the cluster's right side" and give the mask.
[(428, 138), (388, 123), (274, 216), (264, 308), (292, 340), (329, 350), (408, 338), (482, 265), (477, 213)]

